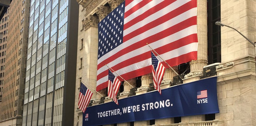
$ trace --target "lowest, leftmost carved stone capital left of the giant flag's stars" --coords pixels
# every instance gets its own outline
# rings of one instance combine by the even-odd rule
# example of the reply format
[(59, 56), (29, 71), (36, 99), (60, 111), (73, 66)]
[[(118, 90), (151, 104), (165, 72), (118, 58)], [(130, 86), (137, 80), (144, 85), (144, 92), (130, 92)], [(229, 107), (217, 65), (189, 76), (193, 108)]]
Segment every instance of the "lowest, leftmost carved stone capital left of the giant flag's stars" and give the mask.
[(82, 23), (86, 31), (90, 27), (98, 27), (99, 19), (97, 16), (90, 15), (88, 18), (85, 18)]

